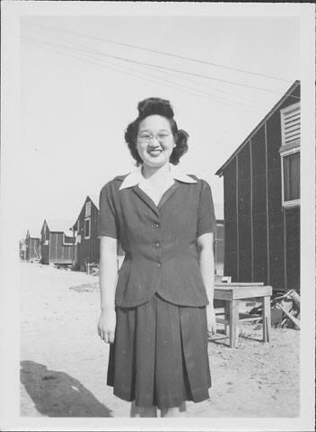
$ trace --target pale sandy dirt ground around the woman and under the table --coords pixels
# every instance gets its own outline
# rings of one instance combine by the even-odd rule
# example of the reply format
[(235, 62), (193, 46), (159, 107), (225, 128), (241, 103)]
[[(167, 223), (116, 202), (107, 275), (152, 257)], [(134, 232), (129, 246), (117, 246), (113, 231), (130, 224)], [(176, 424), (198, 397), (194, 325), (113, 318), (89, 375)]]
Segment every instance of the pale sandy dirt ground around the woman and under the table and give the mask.
[[(21, 416), (129, 417), (129, 403), (105, 383), (108, 345), (97, 334), (98, 277), (21, 263)], [(294, 329), (244, 325), (239, 345), (209, 343), (210, 399), (188, 417), (299, 415), (299, 340)]]

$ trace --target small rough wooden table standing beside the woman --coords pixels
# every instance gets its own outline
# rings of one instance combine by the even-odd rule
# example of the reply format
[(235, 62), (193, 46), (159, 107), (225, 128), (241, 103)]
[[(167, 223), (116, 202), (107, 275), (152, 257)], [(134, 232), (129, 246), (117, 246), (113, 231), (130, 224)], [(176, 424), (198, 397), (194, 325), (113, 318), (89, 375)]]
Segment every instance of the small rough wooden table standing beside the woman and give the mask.
[(225, 334), (229, 325), (230, 347), (237, 344), (237, 325), (240, 321), (258, 320), (256, 318), (239, 318), (240, 300), (259, 298), (262, 301), (263, 342), (269, 342), (271, 328), (270, 296), (272, 287), (263, 283), (215, 283), (214, 299), (224, 300), (224, 320), (216, 318), (216, 322), (224, 323)]

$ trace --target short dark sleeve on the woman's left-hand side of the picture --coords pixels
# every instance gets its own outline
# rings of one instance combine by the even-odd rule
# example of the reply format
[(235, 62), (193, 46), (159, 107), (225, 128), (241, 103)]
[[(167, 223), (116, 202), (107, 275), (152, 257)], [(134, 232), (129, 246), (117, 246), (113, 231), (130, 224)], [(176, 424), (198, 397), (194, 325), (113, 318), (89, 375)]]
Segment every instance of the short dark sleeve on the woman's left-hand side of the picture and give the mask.
[(110, 183), (101, 189), (99, 208), (98, 236), (118, 238), (118, 223)]

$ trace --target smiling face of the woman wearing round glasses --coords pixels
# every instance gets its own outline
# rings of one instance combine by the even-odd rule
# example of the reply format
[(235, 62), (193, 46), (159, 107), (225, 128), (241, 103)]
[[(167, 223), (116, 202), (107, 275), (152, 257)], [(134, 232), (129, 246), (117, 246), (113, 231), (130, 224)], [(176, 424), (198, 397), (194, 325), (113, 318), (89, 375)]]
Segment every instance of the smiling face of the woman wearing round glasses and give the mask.
[(136, 148), (145, 165), (159, 167), (166, 164), (175, 147), (168, 119), (149, 115), (139, 123)]

